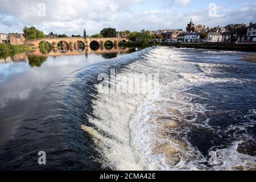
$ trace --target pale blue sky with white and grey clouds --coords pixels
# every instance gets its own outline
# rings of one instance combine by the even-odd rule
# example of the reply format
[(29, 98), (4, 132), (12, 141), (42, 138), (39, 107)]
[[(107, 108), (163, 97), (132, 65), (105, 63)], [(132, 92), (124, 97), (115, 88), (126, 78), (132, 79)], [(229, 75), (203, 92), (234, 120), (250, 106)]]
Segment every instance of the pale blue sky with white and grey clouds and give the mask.
[(256, 23), (256, 0), (0, 0), (0, 32), (35, 26), (45, 34), (99, 33), (103, 28), (185, 30), (190, 20), (206, 27)]

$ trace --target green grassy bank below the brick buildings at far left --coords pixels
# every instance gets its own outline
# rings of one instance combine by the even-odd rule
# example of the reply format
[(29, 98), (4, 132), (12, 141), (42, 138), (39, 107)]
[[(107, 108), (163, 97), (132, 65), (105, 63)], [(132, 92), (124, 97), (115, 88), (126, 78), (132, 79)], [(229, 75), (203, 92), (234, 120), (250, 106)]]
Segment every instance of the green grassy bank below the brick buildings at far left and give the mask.
[(14, 55), (15, 53), (29, 51), (28, 46), (0, 44), (0, 56)]

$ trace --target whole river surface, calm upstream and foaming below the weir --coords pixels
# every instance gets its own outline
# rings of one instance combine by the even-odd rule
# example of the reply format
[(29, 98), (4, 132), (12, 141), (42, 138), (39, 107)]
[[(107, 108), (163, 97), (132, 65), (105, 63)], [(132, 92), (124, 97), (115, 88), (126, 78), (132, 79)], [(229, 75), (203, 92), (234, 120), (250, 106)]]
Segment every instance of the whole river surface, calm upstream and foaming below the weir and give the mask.
[[(239, 61), (249, 53), (104, 50), (1, 60), (0, 169), (256, 168), (256, 64)], [(158, 84), (101, 92), (113, 70), (116, 87), (152, 73)]]

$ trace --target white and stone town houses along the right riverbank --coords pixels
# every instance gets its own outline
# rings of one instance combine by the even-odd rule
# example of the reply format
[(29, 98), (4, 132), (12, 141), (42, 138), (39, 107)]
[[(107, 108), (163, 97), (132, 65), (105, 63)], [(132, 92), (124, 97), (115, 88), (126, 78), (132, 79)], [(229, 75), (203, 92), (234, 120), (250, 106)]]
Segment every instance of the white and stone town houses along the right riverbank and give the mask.
[[(199, 42), (256, 42), (256, 24), (250, 22), (246, 24), (229, 24), (226, 27), (209, 28), (191, 22), (187, 26), (187, 31), (180, 30), (158, 30), (152, 32), (160, 35), (154, 42), (184, 42), (184, 43), (199, 43)], [(201, 34), (206, 37), (201, 39)]]

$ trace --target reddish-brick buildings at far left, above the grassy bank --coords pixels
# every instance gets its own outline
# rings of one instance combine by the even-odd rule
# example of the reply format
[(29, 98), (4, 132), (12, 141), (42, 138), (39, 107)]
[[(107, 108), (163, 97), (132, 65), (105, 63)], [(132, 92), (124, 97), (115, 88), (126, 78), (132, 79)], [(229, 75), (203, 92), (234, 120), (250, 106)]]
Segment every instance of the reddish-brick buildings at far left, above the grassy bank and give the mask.
[(20, 45), (24, 44), (26, 39), (24, 38), (23, 34), (1, 34), (0, 33), (0, 43), (2, 44), (13, 44), (13, 45)]

